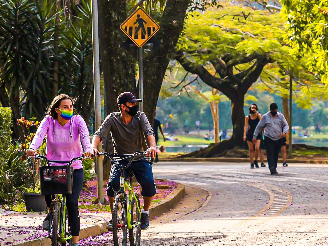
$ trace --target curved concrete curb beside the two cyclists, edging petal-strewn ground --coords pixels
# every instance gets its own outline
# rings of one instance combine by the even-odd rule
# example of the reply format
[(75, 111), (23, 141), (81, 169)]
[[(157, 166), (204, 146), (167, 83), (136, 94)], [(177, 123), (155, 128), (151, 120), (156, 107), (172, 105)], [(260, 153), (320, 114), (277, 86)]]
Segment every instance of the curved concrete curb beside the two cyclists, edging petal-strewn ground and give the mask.
[[(173, 197), (171, 197), (173, 196)], [(170, 209), (173, 209), (176, 204), (185, 196), (185, 187), (183, 184), (178, 183), (178, 187), (171, 193), (170, 197), (166, 197), (162, 200), (162, 203), (156, 204), (153, 208), (149, 209), (149, 216), (153, 219), (155, 216), (164, 214)], [(89, 236), (100, 235), (103, 232), (107, 232), (106, 225), (108, 222), (99, 222), (90, 227), (80, 229), (80, 239)], [(23, 242), (18, 244), (12, 244), (14, 246), (51, 246), (51, 240), (47, 237), (35, 239), (29, 242)]]

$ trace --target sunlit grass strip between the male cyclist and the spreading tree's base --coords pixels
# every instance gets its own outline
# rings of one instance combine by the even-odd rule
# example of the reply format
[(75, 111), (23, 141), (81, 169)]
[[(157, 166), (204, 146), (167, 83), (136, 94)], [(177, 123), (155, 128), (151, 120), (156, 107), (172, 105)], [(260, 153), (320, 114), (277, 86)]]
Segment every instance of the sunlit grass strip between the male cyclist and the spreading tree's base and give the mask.
[[(166, 135), (169, 137), (168, 135)], [(174, 135), (174, 138), (178, 138), (179, 141), (163, 141), (163, 136), (159, 136), (157, 145), (164, 145), (164, 146), (181, 146), (183, 144), (186, 145), (200, 145), (200, 144), (210, 144), (214, 143), (214, 140), (205, 140), (204, 134), (200, 134), (199, 137), (196, 135), (190, 134), (183, 134), (183, 135)]]

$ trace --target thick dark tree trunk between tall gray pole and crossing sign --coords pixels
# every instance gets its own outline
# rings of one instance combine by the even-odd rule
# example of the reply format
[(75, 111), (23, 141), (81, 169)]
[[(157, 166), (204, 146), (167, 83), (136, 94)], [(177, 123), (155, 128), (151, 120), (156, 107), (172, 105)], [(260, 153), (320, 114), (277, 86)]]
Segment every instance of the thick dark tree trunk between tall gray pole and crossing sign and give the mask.
[[(125, 0), (99, 0), (99, 48), (101, 68), (104, 72), (106, 88), (106, 111), (118, 111), (116, 99), (119, 93), (129, 91), (135, 93), (135, 59), (126, 51), (122, 44), (128, 38), (120, 31), (120, 25), (127, 18)], [(107, 115), (106, 115), (107, 116)], [(96, 129), (98, 130), (98, 129)], [(113, 144), (108, 134), (105, 150), (113, 152)], [(103, 163), (104, 180), (108, 180), (110, 162), (107, 158)]]

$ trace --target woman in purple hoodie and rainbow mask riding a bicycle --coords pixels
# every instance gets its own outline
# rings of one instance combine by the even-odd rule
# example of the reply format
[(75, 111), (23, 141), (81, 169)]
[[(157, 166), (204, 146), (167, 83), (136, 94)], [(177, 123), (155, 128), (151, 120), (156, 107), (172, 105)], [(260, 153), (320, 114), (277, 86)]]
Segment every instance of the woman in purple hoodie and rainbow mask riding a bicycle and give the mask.
[[(36, 149), (46, 138), (47, 158), (50, 160), (70, 161), (72, 158), (81, 156), (84, 148), (85, 157), (91, 157), (90, 136), (87, 125), (83, 118), (73, 113), (73, 104), (76, 98), (66, 94), (56, 96), (47, 109), (47, 115), (42, 120), (30, 148), (26, 151), (27, 156), (36, 155)], [(50, 163), (51, 165), (64, 165), (61, 163)], [(82, 161), (77, 160), (72, 163), (73, 187), (72, 194), (66, 195), (68, 223), (72, 233), (73, 246), (77, 246), (80, 235), (80, 216), (77, 201), (83, 186), (83, 166)], [(51, 205), (51, 195), (45, 195), (48, 208)], [(50, 209), (49, 209), (50, 210)], [(42, 228), (49, 229), (49, 217), (44, 219)]]

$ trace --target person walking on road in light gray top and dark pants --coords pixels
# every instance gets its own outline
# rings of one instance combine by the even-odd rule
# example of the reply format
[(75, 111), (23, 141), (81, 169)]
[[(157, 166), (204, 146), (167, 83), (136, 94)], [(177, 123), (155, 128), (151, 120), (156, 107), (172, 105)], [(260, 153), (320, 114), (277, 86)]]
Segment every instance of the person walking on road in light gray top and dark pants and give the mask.
[[(270, 104), (270, 111), (265, 113), (257, 124), (253, 136), (253, 143), (256, 143), (257, 136), (261, 133), (263, 128), (265, 128), (264, 144), (267, 152), (270, 173), (278, 174), (277, 163), (279, 150), (282, 146), (281, 138), (286, 137), (289, 126), (285, 116), (278, 112), (278, 105), (276, 103)], [(282, 133), (281, 128), (283, 128)]]

